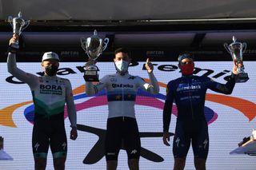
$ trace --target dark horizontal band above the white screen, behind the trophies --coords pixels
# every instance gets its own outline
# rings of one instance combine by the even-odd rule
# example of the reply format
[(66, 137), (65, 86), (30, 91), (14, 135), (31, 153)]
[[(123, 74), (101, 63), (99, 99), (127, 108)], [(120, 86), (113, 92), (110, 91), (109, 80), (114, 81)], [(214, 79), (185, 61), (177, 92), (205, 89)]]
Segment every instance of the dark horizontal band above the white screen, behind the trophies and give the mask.
[[(80, 38), (94, 30), (100, 38), (110, 38), (98, 61), (112, 61), (114, 49), (126, 47), (133, 61), (177, 61), (183, 51), (194, 53), (196, 61), (231, 61), (223, 44), (235, 36), (246, 42), (244, 61), (255, 61), (256, 30), (252, 21), (232, 22), (31, 22), (20, 38), (18, 61), (41, 61), (42, 53), (54, 51), (61, 61), (87, 61)], [(0, 24), (0, 61), (6, 61), (6, 49), (12, 36), (7, 21)]]

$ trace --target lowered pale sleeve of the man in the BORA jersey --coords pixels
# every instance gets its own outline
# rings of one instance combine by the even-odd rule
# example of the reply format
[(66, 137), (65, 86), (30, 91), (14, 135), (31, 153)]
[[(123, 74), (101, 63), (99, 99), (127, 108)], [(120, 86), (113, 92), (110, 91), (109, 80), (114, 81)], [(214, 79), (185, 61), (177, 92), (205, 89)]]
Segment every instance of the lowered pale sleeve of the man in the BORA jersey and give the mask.
[(67, 113), (72, 128), (77, 127), (77, 112), (74, 105), (74, 98), (72, 92), (72, 86), (69, 80), (66, 79), (66, 107)]

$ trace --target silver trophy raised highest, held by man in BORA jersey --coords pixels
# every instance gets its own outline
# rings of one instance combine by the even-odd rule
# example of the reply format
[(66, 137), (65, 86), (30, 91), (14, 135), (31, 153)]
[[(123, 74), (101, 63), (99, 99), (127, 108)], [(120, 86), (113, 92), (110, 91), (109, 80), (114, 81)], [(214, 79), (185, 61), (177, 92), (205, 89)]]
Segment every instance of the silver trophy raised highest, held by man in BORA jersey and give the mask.
[[(10, 23), (10, 26), (13, 27), (13, 34), (17, 34), (18, 36), (22, 34), (22, 31), (26, 29), (27, 26), (30, 25), (30, 20), (25, 21), (22, 18), (22, 12), (18, 13), (18, 17), (11, 17), (9, 16), (8, 22)], [(15, 42), (12, 47), (18, 49), (18, 42)]]

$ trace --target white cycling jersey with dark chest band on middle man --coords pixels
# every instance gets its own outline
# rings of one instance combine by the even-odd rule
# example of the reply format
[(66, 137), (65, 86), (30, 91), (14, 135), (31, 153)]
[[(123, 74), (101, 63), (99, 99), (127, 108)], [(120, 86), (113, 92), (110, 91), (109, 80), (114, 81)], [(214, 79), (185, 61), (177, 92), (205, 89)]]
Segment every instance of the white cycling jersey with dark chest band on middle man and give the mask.
[(138, 88), (149, 93), (158, 93), (158, 81), (153, 73), (149, 73), (151, 85), (146, 83), (141, 77), (132, 76), (129, 73), (120, 75), (119, 73), (106, 75), (93, 85), (86, 81), (86, 94), (91, 96), (106, 89), (107, 101), (109, 106), (108, 118), (112, 117), (134, 117), (134, 104)]

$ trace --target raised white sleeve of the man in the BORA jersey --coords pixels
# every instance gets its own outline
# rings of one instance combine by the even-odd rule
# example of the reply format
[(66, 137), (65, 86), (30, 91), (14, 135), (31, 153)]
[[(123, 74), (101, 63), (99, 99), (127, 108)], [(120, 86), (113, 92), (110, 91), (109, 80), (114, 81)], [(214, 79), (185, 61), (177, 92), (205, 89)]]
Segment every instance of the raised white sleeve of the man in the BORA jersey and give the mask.
[(22, 69), (18, 69), (16, 64), (16, 54), (8, 53), (7, 57), (7, 68), (8, 72), (11, 73), (18, 80), (25, 82), (30, 85), (31, 89), (34, 89), (38, 82), (38, 77), (31, 73), (26, 73)]

